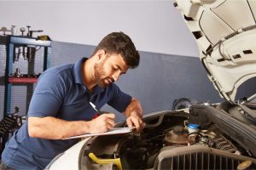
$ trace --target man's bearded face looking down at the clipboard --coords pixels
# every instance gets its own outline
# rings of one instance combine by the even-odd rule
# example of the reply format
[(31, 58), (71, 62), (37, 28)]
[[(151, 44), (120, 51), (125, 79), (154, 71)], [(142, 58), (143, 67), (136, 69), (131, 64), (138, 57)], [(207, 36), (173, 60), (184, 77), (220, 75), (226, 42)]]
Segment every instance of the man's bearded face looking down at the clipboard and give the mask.
[(125, 74), (129, 66), (120, 54), (104, 54), (94, 66), (96, 83), (106, 88), (112, 82), (118, 81), (120, 75)]

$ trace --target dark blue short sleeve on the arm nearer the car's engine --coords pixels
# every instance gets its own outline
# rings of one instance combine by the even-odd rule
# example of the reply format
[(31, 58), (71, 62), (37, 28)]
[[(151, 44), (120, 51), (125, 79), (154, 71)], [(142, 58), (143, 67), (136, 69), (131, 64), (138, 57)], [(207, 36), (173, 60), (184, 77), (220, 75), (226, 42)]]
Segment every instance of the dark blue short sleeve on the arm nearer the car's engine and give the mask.
[(112, 106), (119, 112), (124, 112), (126, 107), (131, 103), (131, 96), (122, 92), (114, 83), (110, 88), (110, 99), (108, 105)]

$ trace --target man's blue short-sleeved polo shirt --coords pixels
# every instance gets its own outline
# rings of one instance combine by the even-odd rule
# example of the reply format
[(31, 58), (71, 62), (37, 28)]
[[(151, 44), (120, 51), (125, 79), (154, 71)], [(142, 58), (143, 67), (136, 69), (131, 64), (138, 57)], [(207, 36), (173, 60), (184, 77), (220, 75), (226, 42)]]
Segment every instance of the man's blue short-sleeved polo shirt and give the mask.
[[(125, 111), (131, 96), (120, 91), (114, 83), (107, 88), (96, 86), (92, 93), (88, 91), (82, 81), (84, 60), (86, 58), (79, 59), (74, 65), (60, 65), (44, 71), (38, 79), (27, 116), (90, 121), (96, 114), (90, 101), (99, 109), (108, 104), (119, 112)], [(31, 138), (25, 122), (5, 145), (2, 161), (15, 169), (44, 169), (56, 155), (78, 141)]]

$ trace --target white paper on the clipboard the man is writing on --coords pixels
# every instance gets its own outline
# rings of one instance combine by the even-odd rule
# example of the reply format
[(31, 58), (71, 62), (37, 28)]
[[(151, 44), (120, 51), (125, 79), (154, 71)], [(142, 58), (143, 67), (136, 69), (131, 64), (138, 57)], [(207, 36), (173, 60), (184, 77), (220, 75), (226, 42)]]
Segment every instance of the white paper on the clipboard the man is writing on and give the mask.
[[(103, 136), (103, 135), (113, 135), (113, 134), (125, 134), (131, 133), (133, 131), (133, 127), (113, 127), (106, 133), (85, 133), (77, 136), (71, 136), (64, 139), (78, 139), (78, 138), (88, 138), (92, 136)], [(63, 140), (64, 140), (63, 139)]]

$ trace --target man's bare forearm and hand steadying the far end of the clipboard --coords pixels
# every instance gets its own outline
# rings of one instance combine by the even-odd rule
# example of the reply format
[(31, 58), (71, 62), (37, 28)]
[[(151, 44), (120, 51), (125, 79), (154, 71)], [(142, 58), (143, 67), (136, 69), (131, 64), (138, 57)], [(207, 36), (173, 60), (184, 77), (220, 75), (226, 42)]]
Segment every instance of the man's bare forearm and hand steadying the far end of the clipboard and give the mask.
[(143, 108), (137, 99), (131, 99), (131, 103), (125, 109), (125, 116), (128, 127), (136, 127), (136, 132), (143, 130)]

